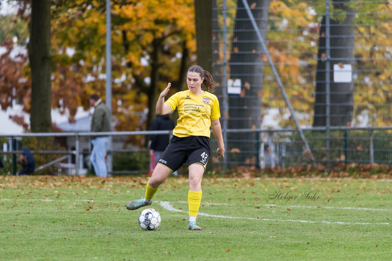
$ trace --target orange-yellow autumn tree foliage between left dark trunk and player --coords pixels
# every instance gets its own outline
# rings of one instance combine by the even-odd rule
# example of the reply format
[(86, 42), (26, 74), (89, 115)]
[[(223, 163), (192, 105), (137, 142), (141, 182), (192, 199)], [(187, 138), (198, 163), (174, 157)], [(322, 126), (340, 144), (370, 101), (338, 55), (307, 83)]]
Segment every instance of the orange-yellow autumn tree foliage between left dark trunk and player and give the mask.
[[(20, 1), (29, 11), (25, 3)], [(105, 97), (105, 5), (58, 0), (51, 7), (52, 107), (69, 111), (74, 121), (78, 106), (89, 107), (90, 94)], [(167, 82), (172, 82), (172, 93), (185, 88), (196, 50), (193, 1), (114, 0), (111, 12), (116, 128), (145, 130)]]

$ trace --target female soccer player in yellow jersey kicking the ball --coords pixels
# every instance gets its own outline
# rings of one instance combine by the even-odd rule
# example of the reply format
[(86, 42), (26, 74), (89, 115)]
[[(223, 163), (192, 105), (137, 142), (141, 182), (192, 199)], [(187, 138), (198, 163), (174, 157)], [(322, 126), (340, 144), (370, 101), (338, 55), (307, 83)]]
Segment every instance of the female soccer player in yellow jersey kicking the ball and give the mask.
[[(201, 83), (205, 85), (208, 92), (201, 89)], [(216, 150), (218, 159), (225, 157), (225, 146), (219, 122), (218, 99), (211, 94), (216, 89), (211, 74), (200, 66), (194, 65), (188, 70), (187, 85), (189, 90), (177, 92), (165, 102), (165, 96), (171, 86), (169, 83), (158, 98), (156, 113), (165, 115), (177, 109), (179, 119), (173, 130), (174, 136), (147, 182), (144, 199), (132, 200), (127, 204), (127, 209), (134, 210), (151, 205), (154, 194), (169, 174), (187, 162), (189, 170), (188, 229), (201, 230), (201, 227), (196, 225), (196, 216), (201, 202), (201, 179), (210, 157), (210, 126), (218, 141), (219, 147)]]

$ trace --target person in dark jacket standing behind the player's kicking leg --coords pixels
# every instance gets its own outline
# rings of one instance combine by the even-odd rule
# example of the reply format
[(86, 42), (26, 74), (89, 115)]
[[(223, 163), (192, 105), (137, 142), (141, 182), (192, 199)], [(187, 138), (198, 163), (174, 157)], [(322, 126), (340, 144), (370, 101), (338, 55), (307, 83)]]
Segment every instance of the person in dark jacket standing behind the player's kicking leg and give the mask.
[[(157, 115), (156, 119), (152, 121), (151, 130), (173, 130), (174, 121), (169, 118), (169, 115)], [(171, 135), (151, 135), (150, 138), (150, 174), (154, 171), (158, 160), (161, 158), (163, 151), (169, 145)], [(174, 172), (177, 176), (177, 171)]]

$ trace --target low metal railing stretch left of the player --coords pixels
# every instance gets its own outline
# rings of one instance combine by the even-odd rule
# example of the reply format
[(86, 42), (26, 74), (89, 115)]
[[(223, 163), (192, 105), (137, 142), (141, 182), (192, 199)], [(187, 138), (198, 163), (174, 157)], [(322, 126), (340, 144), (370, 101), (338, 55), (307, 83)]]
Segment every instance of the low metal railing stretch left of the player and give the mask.
[(8, 175), (18, 173), (21, 167), (16, 165), (16, 158), (22, 153), (23, 148), (27, 147), (36, 161), (36, 174), (93, 174), (94, 170), (90, 162), (92, 149), (90, 137), (111, 136), (111, 149), (107, 150), (107, 156), (112, 156), (113, 171), (110, 174), (146, 174), (150, 170), (149, 150), (144, 146), (135, 145), (134, 139), (135, 137), (142, 137), (142, 140), (149, 139), (149, 135), (153, 134), (169, 137), (171, 131), (0, 134), (0, 144), (3, 145), (0, 157), (5, 166), (0, 173)]

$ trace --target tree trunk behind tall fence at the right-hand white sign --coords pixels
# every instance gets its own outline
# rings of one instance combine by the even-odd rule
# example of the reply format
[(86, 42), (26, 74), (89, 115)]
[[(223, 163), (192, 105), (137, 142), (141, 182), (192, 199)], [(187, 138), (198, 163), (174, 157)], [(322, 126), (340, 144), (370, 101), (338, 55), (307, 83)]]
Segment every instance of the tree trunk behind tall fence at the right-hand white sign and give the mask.
[[(343, 2), (348, 4), (349, 0)], [(352, 67), (354, 65), (354, 28), (350, 24), (354, 19), (355, 9), (348, 7), (346, 3), (339, 1), (338, 4), (333, 4), (334, 9), (340, 9), (346, 13), (345, 19), (330, 20), (330, 126), (346, 126), (351, 122), (353, 115), (354, 82), (335, 83), (333, 81), (335, 64), (350, 64)], [(325, 61), (320, 60), (325, 52), (325, 17), (323, 17), (319, 38), (313, 126), (326, 126)]]

